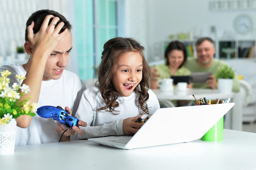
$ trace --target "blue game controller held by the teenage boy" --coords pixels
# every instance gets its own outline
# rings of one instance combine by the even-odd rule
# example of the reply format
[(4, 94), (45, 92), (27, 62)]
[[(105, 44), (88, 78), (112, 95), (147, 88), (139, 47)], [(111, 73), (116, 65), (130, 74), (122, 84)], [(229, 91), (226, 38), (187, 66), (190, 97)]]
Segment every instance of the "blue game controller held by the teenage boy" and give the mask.
[(77, 119), (74, 116), (68, 114), (61, 106), (41, 106), (37, 109), (36, 113), (43, 118), (51, 118), (59, 121), (61, 124), (65, 124), (68, 127), (78, 126)]

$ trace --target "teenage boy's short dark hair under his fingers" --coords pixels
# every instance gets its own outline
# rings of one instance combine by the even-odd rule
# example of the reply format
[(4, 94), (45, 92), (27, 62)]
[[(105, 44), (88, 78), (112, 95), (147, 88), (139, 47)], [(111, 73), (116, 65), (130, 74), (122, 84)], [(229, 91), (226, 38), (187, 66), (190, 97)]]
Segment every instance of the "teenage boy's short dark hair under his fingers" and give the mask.
[[(63, 15), (61, 15), (60, 13), (58, 13), (56, 11), (52, 11), (49, 9), (42, 9), (42, 10), (32, 13), (30, 15), (29, 19), (27, 20), (26, 31), (25, 31), (25, 41), (29, 41), (29, 39), (27, 38), (27, 26), (29, 26), (32, 23), (32, 21), (34, 21), (35, 25), (34, 25), (33, 31), (34, 31), (34, 33), (37, 33), (40, 30), (41, 25), (43, 24), (43, 21), (44, 21), (46, 15), (54, 15), (55, 17), (60, 18), (60, 20), (57, 22), (56, 26), (60, 22), (64, 22), (64, 26), (61, 29), (60, 33), (62, 33), (65, 29), (71, 30), (72, 26), (71, 26), (70, 22)], [(51, 22), (52, 22), (52, 19), (49, 21), (49, 24)]]

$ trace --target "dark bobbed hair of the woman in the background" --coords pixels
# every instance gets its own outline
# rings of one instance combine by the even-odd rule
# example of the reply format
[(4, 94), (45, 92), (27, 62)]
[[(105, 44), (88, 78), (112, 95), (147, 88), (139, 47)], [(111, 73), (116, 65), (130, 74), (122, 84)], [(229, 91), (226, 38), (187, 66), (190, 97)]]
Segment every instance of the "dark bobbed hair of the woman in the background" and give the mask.
[(182, 62), (182, 64), (179, 66), (179, 68), (181, 68), (182, 66), (183, 66), (183, 64), (186, 62), (186, 60), (187, 60), (187, 52), (186, 52), (186, 46), (182, 43), (182, 42), (180, 42), (180, 41), (173, 41), (173, 42), (171, 42), (168, 46), (167, 46), (167, 48), (166, 48), (166, 50), (165, 50), (165, 52), (164, 52), (164, 59), (165, 59), (165, 61), (166, 61), (166, 65), (168, 66), (170, 63), (169, 63), (169, 60), (168, 60), (168, 55), (169, 55), (169, 53), (171, 53), (171, 51), (173, 51), (173, 50), (180, 50), (180, 51), (182, 51), (183, 52), (183, 55), (184, 55), (184, 61)]

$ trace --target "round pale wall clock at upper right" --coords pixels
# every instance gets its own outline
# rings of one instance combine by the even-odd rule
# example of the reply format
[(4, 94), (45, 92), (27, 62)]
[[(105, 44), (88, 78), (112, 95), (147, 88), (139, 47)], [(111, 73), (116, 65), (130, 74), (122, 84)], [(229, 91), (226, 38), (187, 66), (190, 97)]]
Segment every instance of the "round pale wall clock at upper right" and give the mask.
[(238, 15), (234, 20), (234, 28), (238, 33), (249, 33), (252, 26), (252, 18), (249, 15)]

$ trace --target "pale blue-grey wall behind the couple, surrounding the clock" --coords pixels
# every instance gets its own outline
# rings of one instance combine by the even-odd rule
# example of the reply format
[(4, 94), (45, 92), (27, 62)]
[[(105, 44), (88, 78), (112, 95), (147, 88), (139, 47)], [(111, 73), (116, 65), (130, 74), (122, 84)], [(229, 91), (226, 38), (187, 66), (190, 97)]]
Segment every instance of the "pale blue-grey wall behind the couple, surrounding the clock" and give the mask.
[[(256, 38), (256, 9), (209, 9), (213, 0), (147, 0), (148, 57), (154, 56), (156, 43), (168, 40), (170, 34), (193, 31), (195, 38), (209, 36), (210, 27), (216, 26), (217, 38), (230, 35), (237, 39)], [(225, 1), (225, 0), (219, 0)], [(226, 0), (227, 1), (227, 0)], [(239, 35), (233, 21), (239, 14), (248, 14), (254, 22), (254, 29), (246, 35)], [(227, 38), (227, 36), (226, 36)]]

